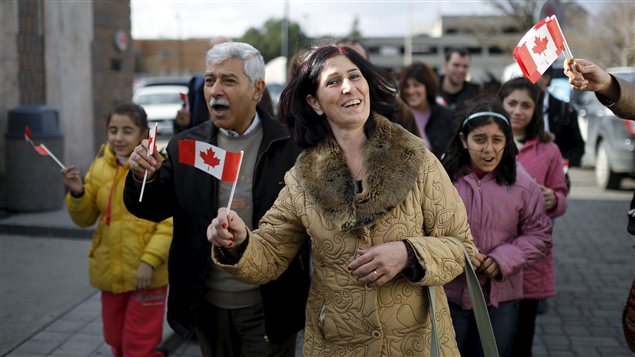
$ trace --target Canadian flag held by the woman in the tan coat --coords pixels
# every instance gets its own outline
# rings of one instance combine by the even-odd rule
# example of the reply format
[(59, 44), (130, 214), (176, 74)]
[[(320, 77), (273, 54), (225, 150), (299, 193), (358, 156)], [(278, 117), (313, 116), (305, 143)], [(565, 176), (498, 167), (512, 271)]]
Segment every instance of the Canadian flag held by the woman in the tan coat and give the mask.
[(179, 140), (179, 162), (216, 177), (223, 182), (238, 179), (242, 152), (223, 150), (195, 140)]

